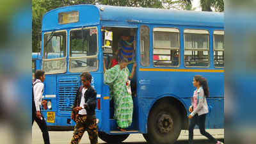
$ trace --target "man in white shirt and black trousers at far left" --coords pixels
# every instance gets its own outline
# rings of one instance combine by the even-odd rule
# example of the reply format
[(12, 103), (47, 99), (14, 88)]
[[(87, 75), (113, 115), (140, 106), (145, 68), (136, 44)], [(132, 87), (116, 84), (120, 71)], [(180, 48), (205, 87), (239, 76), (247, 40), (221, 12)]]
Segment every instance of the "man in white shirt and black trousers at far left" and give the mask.
[(47, 125), (44, 119), (44, 116), (41, 113), (41, 105), (46, 107), (47, 101), (42, 100), (43, 92), (44, 92), (44, 79), (45, 79), (45, 72), (42, 70), (36, 70), (35, 72), (35, 81), (33, 82), (32, 86), (32, 125), (34, 121), (40, 127), (44, 143), (50, 144), (49, 140), (49, 132), (47, 131)]

